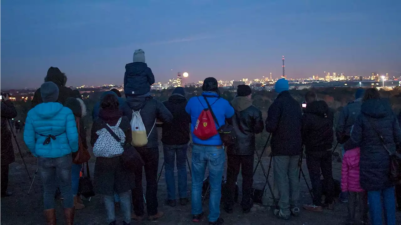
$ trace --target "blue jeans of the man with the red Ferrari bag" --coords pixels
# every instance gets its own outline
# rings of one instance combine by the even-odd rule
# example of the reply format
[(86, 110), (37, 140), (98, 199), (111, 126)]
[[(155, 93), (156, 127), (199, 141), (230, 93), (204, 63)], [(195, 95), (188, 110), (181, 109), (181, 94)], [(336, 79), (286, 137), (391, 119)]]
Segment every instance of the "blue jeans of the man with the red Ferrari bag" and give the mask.
[(220, 216), (221, 177), (223, 176), (225, 152), (221, 146), (192, 147), (192, 214), (202, 213), (202, 185), (206, 166), (209, 167), (210, 199), (209, 221)]

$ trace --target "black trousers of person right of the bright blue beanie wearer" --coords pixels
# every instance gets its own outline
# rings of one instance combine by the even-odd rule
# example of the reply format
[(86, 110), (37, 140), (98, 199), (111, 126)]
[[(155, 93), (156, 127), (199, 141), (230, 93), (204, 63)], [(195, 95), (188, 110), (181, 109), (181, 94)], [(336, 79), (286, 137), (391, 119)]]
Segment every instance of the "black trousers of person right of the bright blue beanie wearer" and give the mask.
[(320, 181), (320, 170), (323, 175), (323, 185), (327, 188), (325, 203), (333, 203), (334, 182), (331, 150), (307, 153), (306, 165), (308, 167), (310, 182), (312, 183), (313, 188), (313, 204), (322, 205), (322, 181)]

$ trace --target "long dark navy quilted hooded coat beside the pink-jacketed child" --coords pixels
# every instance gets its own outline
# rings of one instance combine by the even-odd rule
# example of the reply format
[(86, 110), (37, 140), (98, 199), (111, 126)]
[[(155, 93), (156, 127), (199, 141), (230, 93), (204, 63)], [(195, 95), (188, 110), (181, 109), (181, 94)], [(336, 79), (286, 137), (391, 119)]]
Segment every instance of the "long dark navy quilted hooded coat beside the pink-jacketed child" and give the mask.
[(371, 99), (362, 103), (360, 115), (351, 131), (351, 140), (360, 146), (360, 185), (366, 191), (393, 186), (389, 180), (389, 153), (375, 129), (392, 153), (401, 143), (401, 129), (388, 99)]

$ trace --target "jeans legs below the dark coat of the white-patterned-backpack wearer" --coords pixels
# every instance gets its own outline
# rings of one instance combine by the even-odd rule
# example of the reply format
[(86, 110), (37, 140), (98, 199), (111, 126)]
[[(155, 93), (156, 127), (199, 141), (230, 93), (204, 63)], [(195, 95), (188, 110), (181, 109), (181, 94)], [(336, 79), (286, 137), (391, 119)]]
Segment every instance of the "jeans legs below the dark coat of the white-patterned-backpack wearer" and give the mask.
[[(123, 211), (123, 218), (126, 223), (131, 221), (131, 192), (126, 191), (118, 194), (120, 208)], [(114, 195), (104, 196), (104, 206), (106, 208), (107, 223), (115, 221)]]

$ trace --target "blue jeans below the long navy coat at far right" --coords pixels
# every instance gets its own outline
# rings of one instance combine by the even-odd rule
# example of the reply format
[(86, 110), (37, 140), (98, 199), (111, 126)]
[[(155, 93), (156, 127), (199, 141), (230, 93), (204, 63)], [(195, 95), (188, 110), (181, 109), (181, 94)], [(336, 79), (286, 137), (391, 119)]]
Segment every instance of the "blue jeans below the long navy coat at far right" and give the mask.
[(382, 201), (384, 203), (384, 218), (387, 225), (395, 225), (395, 187), (379, 191), (368, 191), (369, 213), (372, 225), (382, 225)]

